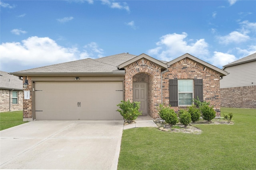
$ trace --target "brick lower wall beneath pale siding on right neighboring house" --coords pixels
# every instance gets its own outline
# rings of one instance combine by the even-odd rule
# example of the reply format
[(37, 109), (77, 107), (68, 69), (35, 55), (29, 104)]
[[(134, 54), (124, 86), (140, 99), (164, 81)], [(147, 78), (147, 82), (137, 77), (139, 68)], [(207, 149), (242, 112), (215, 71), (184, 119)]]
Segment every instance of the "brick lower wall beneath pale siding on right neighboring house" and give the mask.
[(256, 108), (256, 86), (221, 88), (221, 107)]

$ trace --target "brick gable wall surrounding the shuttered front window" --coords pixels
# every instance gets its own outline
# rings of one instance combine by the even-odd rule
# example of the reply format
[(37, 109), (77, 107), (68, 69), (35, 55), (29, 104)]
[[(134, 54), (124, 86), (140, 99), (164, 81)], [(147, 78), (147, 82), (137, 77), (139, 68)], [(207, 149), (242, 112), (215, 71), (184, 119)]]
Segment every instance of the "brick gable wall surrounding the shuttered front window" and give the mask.
[[(210, 102), (220, 117), (220, 74), (200, 63), (185, 58), (174, 63), (163, 73), (163, 104), (169, 105), (169, 79), (203, 79), (204, 101)], [(171, 107), (178, 112), (186, 106)]]

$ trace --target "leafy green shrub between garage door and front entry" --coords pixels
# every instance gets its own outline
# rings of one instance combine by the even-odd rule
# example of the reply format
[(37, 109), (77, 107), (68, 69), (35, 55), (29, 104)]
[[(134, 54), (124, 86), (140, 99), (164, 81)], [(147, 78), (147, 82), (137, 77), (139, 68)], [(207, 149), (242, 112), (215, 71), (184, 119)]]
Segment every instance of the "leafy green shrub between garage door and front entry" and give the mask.
[(141, 111), (139, 111), (140, 102), (130, 102), (130, 100), (122, 100), (121, 103), (117, 106), (120, 107), (120, 109), (117, 109), (117, 111), (120, 112), (120, 114), (124, 117), (126, 121), (128, 121), (128, 123), (131, 123), (132, 121), (137, 119), (137, 117), (142, 113)]

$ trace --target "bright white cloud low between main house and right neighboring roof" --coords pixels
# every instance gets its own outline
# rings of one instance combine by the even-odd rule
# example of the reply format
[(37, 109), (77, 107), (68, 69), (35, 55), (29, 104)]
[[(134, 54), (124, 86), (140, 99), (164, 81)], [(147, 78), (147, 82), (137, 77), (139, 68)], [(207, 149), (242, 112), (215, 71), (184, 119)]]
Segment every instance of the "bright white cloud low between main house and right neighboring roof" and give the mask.
[(237, 59), (234, 55), (214, 51), (214, 56), (210, 60), (214, 66), (222, 67), (228, 63), (236, 61)]

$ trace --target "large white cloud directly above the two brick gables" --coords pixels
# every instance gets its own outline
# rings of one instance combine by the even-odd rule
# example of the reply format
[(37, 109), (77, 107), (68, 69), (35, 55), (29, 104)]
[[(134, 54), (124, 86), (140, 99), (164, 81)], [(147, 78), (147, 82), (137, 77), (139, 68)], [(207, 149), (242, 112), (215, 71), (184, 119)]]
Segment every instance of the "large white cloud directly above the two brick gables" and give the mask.
[(156, 48), (148, 50), (148, 54), (163, 61), (171, 61), (185, 53), (206, 58), (209, 51), (208, 44), (204, 39), (196, 40), (194, 43), (188, 43), (185, 40), (187, 36), (188, 34), (185, 32), (182, 34), (173, 33), (164, 35), (156, 43)]

